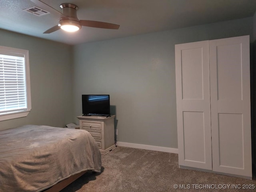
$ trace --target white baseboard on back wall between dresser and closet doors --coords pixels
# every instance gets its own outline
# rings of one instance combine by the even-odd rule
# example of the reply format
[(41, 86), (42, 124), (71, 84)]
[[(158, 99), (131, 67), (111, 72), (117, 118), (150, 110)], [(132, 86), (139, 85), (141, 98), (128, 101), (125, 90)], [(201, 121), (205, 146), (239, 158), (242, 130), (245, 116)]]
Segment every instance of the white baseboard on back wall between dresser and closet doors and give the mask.
[(146, 150), (153, 150), (153, 151), (161, 151), (161, 152), (168, 152), (168, 153), (177, 153), (178, 154), (178, 149), (176, 149), (176, 148), (158, 147), (158, 146), (152, 146), (152, 145), (143, 145), (143, 144), (125, 143), (125, 142), (117, 142), (117, 146), (138, 148), (138, 149), (146, 149)]

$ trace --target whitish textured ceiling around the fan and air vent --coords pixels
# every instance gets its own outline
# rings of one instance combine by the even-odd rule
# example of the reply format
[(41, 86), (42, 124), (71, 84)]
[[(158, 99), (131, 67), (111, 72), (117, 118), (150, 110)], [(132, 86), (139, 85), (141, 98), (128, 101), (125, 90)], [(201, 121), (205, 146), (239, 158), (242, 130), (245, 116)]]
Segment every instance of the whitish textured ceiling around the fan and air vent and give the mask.
[(74, 45), (254, 16), (256, 0), (41, 0), (56, 10), (78, 6), (80, 20), (119, 24), (118, 30), (82, 27), (77, 32), (44, 31), (58, 24), (54, 14), (36, 16), (23, 9), (30, 0), (0, 0), (0, 28)]

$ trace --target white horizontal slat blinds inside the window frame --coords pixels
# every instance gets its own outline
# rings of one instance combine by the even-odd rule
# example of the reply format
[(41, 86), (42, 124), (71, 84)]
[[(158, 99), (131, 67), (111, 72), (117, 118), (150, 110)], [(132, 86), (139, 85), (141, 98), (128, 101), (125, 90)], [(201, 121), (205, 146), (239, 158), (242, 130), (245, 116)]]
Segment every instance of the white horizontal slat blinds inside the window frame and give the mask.
[(0, 54), (0, 114), (27, 110), (24, 56)]

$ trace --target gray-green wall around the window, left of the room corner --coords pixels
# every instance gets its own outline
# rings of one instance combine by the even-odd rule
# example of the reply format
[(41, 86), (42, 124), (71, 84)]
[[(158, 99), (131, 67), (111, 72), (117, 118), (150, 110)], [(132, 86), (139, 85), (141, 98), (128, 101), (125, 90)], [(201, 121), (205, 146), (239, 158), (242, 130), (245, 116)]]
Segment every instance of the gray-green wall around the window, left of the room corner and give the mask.
[(32, 98), (28, 116), (0, 122), (0, 130), (72, 122), (72, 47), (6, 30), (0, 30), (0, 46), (29, 50)]

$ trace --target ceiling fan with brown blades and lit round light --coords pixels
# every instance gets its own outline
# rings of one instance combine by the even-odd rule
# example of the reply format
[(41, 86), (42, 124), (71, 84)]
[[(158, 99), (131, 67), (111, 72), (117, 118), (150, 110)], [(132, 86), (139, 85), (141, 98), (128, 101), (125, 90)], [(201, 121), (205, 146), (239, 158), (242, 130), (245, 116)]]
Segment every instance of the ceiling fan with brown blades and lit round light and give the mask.
[(76, 10), (78, 10), (78, 6), (71, 3), (62, 3), (60, 4), (60, 8), (62, 9), (62, 13), (58, 10), (52, 8), (48, 4), (40, 0), (30, 0), (38, 5), (40, 8), (59, 16), (60, 20), (58, 21), (58, 25), (46, 30), (44, 33), (52, 33), (60, 28), (66, 30), (68, 32), (74, 32), (82, 28), (82, 26), (87, 27), (95, 27), (95, 28), (104, 28), (104, 29), (118, 29), (120, 25), (100, 22), (100, 21), (91, 21), (91, 20), (79, 20), (76, 16)]

